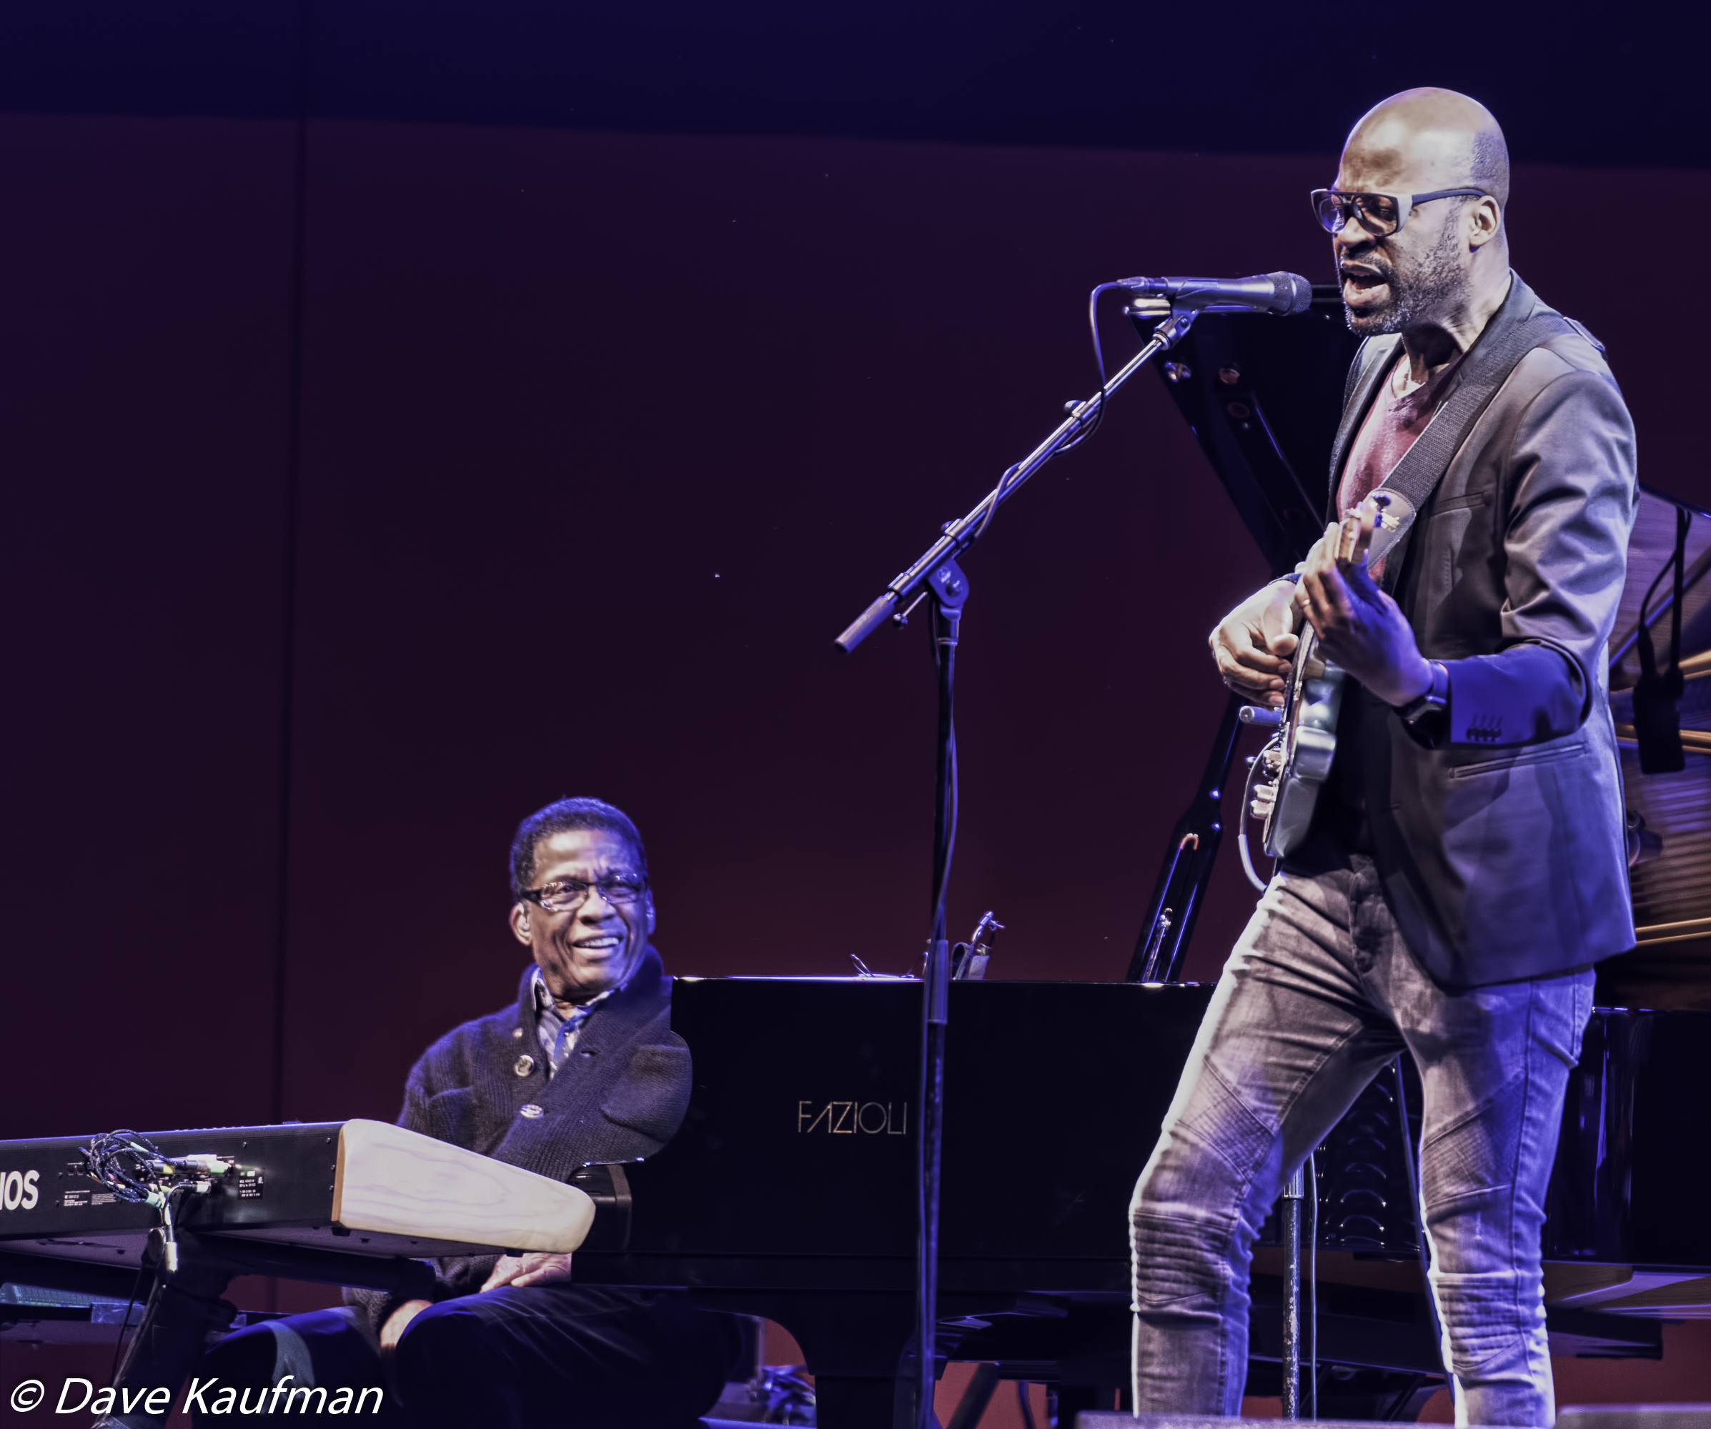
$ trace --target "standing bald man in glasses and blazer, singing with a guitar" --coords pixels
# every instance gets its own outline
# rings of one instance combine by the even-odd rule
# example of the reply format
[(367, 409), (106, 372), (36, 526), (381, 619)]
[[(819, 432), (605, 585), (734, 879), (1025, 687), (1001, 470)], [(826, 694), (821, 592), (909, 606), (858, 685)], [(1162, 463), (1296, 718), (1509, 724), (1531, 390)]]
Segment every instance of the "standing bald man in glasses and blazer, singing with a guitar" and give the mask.
[(1312, 195), (1365, 339), (1329, 513), (1371, 522), (1382, 484), (1418, 517), (1376, 568), (1333, 525), (1211, 633), (1249, 700), (1285, 703), (1302, 618), (1348, 685), (1136, 1186), (1140, 1412), (1239, 1410), (1254, 1236), (1406, 1054), (1456, 1422), (1555, 1419), (1545, 1184), (1593, 964), (1634, 946), (1607, 643), (1637, 488), (1601, 346), (1509, 269), (1507, 199), (1497, 122), (1444, 89), (1369, 111)]

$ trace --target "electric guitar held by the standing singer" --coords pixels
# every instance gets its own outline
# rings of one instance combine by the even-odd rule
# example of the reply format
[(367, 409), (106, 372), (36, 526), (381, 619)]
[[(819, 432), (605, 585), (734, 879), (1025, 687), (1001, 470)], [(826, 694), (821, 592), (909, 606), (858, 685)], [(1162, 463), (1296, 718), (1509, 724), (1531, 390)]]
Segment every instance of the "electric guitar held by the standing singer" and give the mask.
[[(1374, 491), (1338, 527), (1338, 563), (1357, 566), (1382, 560), (1412, 524), (1413, 508), (1406, 498)], [(1271, 779), (1271, 798), (1256, 799), (1252, 809), (1256, 818), (1264, 818), (1263, 847), (1275, 859), (1300, 847), (1312, 827), (1319, 791), (1336, 758), (1336, 717), (1348, 683), (1341, 669), (1319, 655), (1311, 625), (1297, 618), (1295, 633), (1300, 643), (1283, 688), (1278, 732), (1259, 755), (1259, 772)]]

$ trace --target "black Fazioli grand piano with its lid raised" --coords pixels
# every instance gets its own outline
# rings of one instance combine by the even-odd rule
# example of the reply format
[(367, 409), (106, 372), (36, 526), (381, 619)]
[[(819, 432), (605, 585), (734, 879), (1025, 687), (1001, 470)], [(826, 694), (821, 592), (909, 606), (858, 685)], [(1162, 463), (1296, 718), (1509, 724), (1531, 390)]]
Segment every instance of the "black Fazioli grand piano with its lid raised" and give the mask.
[[(1297, 318), (1201, 317), (1160, 366), (1276, 570), (1323, 529), (1350, 353), (1328, 289)], [(1641, 597), (1678, 537), (1685, 767), (1641, 774), (1637, 748), (1624, 748), (1641, 933), (1601, 969), (1564, 1111), (1545, 1230), (1555, 1354), (1658, 1357), (1665, 1319), (1711, 1316), (1711, 1099), (1699, 1092), (1711, 1071), (1711, 681), (1699, 678), (1711, 674), (1711, 517), (1651, 491), (1612, 647), (1612, 705), (1632, 734)], [(1673, 599), (1670, 580), (1660, 590)], [(1670, 599), (1653, 597), (1653, 621)], [(1667, 647), (1667, 621), (1655, 628)], [(1167, 840), (1128, 982), (950, 989), (938, 1355), (1047, 1383), (1064, 1424), (1076, 1408), (1117, 1405), (1128, 1374), (1126, 1207), (1211, 993), (1177, 972), (1218, 856), (1235, 712), (1232, 702)], [(578, 1174), (595, 1203), (578, 1277), (678, 1287), (710, 1309), (782, 1323), (816, 1376), (825, 1429), (912, 1422), (919, 1018), (912, 979), (678, 979), (672, 1025), (695, 1054), (688, 1118), (652, 1160)], [(1417, 1083), (1405, 1076), (1398, 1092), (1381, 1078), (1316, 1157), (1328, 1417), (1412, 1419), (1441, 1383), (1403, 1160), (1417, 1126)], [(311, 1179), (317, 1195), (330, 1189), (322, 1169)], [(407, 1246), (351, 1236), (330, 1207), (294, 1244), (240, 1244), (212, 1213), (188, 1224), (219, 1275), (265, 1266), (395, 1285), (412, 1270)], [(0, 1239), (5, 1282), (120, 1297), (133, 1284), (133, 1272), (68, 1249), (63, 1230)], [(1254, 1393), (1276, 1393), (1282, 1270), (1263, 1244)], [(0, 1289), (0, 1319), (5, 1299)]]

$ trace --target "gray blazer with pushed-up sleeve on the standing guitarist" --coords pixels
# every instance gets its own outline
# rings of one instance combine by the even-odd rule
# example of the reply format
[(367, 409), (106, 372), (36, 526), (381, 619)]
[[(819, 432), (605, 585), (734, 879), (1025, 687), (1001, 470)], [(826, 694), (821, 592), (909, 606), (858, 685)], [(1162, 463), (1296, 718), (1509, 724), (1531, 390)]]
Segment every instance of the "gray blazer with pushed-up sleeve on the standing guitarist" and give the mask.
[[(1543, 306), (1513, 277), (1480, 341)], [(1333, 501), (1400, 341), (1355, 358)], [(1576, 325), (1526, 353), (1471, 419), (1386, 572), (1420, 650), (1449, 669), (1449, 727), (1425, 748), (1355, 691), (1367, 818), (1389, 907), (1446, 987), (1634, 946), (1607, 647), (1636, 500), (1634, 424)]]

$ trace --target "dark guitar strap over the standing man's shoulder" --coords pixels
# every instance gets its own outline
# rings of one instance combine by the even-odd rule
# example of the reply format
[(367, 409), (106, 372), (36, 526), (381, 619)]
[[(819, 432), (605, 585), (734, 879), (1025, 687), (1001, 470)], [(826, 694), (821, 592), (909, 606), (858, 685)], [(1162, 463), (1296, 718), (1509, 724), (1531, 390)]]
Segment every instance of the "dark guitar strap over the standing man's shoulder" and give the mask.
[[(1379, 491), (1396, 493), (1406, 505), (1403, 510), (1417, 513), (1437, 489), (1444, 472), (1461, 443), (1468, 438), (1473, 424), (1483, 416), (1492, 399), (1509, 380), (1516, 363), (1542, 342), (1560, 337), (1567, 332), (1579, 332), (1591, 339), (1579, 323), (1562, 317), (1555, 308), (1547, 308), (1533, 294), (1533, 289), (1511, 277), (1509, 296), (1492, 315), (1485, 330), (1463, 356), (1456, 368), (1456, 378), (1413, 445), (1396, 462), (1391, 474), (1379, 483)], [(1596, 339), (1591, 339), (1596, 344)], [(1598, 344), (1601, 346), (1601, 344)], [(1352, 450), (1353, 440), (1345, 447)], [(1333, 472), (1333, 491), (1336, 474)], [(1335, 496), (1333, 496), (1335, 501)], [(1403, 531), (1393, 554), (1386, 558), (1382, 585), (1394, 594), (1408, 556), (1408, 532)]]

